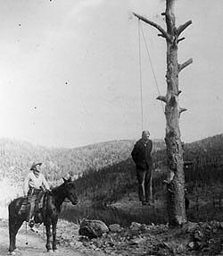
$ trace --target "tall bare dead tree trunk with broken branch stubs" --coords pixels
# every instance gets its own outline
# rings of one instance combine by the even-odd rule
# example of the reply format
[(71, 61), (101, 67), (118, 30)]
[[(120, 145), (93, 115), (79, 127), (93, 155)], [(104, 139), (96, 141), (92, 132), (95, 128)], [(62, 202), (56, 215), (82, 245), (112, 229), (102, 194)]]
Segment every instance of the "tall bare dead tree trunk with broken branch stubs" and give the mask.
[(186, 108), (179, 106), (178, 73), (187, 65), (192, 64), (193, 59), (187, 60), (183, 64), (178, 64), (178, 43), (185, 38), (180, 35), (186, 28), (192, 24), (192, 21), (186, 21), (185, 24), (176, 27), (175, 7), (176, 0), (166, 0), (166, 11), (161, 13), (165, 16), (167, 30), (153, 21), (134, 13), (141, 21), (145, 21), (160, 31), (158, 36), (165, 38), (167, 43), (167, 94), (158, 96), (157, 99), (165, 103), (166, 116), (166, 149), (167, 163), (169, 169), (169, 179), (167, 181), (167, 210), (170, 226), (180, 226), (186, 223), (185, 209), (185, 174), (183, 148), (180, 140), (179, 118)]

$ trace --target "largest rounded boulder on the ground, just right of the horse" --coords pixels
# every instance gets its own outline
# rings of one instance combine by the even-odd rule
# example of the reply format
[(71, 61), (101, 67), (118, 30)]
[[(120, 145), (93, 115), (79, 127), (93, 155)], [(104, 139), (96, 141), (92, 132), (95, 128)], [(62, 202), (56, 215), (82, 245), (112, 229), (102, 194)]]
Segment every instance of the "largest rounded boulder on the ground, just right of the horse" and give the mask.
[(79, 226), (78, 234), (85, 235), (90, 239), (100, 237), (109, 231), (108, 226), (101, 220), (84, 219)]

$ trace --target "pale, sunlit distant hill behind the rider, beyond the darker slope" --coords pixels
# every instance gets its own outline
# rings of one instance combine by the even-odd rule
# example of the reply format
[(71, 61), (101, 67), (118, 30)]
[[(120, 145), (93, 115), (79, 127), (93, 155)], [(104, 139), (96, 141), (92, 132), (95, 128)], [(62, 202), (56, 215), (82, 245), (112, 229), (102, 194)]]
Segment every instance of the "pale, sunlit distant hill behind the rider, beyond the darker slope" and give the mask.
[[(82, 175), (112, 166), (129, 158), (135, 141), (106, 141), (75, 149), (48, 149), (26, 141), (0, 139), (0, 180), (7, 177), (21, 183), (33, 162), (43, 162), (43, 171), (50, 181), (63, 175)], [(154, 150), (163, 149), (164, 141), (155, 140)]]

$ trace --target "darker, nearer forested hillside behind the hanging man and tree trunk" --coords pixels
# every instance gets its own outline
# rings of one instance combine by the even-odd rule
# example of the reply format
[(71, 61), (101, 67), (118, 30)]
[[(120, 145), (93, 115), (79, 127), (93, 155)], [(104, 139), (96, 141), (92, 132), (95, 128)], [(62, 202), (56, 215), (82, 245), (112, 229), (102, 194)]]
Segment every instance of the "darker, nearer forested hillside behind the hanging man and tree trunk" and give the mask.
[[(215, 181), (223, 183), (223, 134), (185, 144), (185, 161), (194, 163), (186, 168), (186, 184), (206, 185)], [(166, 150), (153, 153), (154, 192), (161, 192), (166, 178)], [(86, 173), (77, 181), (78, 192), (95, 202), (111, 203), (125, 194), (136, 192), (136, 169), (131, 158), (97, 172)]]

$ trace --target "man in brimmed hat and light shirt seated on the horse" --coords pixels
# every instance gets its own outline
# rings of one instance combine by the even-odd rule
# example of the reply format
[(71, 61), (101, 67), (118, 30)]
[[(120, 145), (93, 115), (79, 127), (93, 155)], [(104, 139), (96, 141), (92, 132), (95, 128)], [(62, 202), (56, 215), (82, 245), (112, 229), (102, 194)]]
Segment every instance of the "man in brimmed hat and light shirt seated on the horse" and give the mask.
[(30, 167), (29, 174), (26, 176), (23, 183), (24, 196), (28, 197), (29, 202), (29, 213), (27, 215), (27, 222), (29, 226), (33, 228), (35, 222), (33, 220), (35, 204), (37, 201), (37, 196), (43, 190), (50, 191), (50, 186), (45, 180), (45, 176), (40, 173), (40, 166), (42, 163), (33, 163)]

